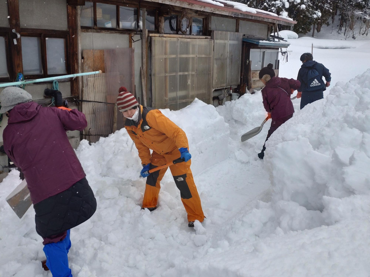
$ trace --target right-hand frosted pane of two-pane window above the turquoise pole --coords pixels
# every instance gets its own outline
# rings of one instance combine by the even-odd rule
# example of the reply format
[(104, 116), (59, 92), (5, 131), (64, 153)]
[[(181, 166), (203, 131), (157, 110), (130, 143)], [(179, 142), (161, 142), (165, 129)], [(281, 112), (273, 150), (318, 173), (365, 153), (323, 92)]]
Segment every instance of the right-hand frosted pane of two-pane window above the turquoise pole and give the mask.
[(46, 38), (48, 74), (63, 74), (65, 70), (64, 38)]

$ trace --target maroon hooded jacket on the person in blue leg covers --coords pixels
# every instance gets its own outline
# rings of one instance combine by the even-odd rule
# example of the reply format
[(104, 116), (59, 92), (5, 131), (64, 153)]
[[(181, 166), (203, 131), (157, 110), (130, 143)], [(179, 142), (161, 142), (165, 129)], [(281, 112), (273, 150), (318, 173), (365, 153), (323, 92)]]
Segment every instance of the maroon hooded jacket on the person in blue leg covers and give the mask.
[(82, 131), (78, 110), (22, 103), (9, 112), (4, 150), (27, 181), (33, 204), (65, 191), (86, 176), (65, 131)]

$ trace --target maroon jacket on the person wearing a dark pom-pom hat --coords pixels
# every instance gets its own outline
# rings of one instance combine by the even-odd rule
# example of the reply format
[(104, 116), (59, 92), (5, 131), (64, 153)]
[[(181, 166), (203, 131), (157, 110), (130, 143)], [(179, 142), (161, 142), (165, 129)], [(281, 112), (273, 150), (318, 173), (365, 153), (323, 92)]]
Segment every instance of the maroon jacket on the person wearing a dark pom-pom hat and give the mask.
[(266, 112), (271, 113), (272, 120), (279, 120), (294, 113), (293, 103), (290, 100), (290, 89), (300, 87), (295, 79), (272, 77), (262, 89), (263, 106)]

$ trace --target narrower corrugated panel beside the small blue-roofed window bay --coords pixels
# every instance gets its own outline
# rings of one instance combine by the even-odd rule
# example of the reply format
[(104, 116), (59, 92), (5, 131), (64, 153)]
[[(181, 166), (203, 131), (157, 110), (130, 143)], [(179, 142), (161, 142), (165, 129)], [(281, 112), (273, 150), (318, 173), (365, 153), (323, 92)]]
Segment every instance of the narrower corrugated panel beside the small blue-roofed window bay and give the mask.
[(243, 34), (212, 31), (212, 39), (213, 89), (239, 85)]

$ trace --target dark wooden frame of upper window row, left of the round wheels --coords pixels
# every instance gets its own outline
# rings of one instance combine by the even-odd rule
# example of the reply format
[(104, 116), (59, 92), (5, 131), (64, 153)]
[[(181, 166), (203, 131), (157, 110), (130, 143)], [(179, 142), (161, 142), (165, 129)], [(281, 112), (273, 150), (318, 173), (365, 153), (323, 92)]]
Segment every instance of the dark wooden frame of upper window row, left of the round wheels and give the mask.
[[(90, 3), (90, 1), (88, 1), (88, 3)], [(139, 4), (129, 4), (129, 3), (117, 3), (117, 2), (114, 2), (114, 1), (102, 1), (102, 0), (91, 0), (91, 3), (92, 3), (92, 7), (94, 9), (93, 11), (93, 18), (92, 18), (92, 27), (90, 26), (80, 26), (81, 29), (83, 30), (102, 30), (102, 31), (115, 31), (115, 32), (122, 32), (122, 33), (133, 33), (133, 32), (137, 32), (137, 33), (141, 33), (141, 29), (139, 28), (139, 24), (140, 24), (140, 12), (143, 8), (147, 8), (147, 11), (148, 11), (148, 7), (146, 5), (141, 5), (140, 3)], [(104, 27), (98, 27), (97, 25), (97, 5), (96, 4), (108, 4), (108, 5), (113, 5), (113, 6), (116, 6), (116, 26), (118, 26), (118, 28), (104, 28)], [(137, 9), (137, 20), (136, 20), (136, 29), (125, 29), (125, 28), (119, 28), (120, 26), (120, 7), (129, 7), (129, 8), (136, 8)], [(148, 30), (148, 33), (158, 33), (158, 11), (157, 9), (155, 8), (150, 8), (149, 7), (149, 10), (151, 11), (154, 11), (154, 14), (155, 14), (155, 30), (152, 31), (152, 30)], [(79, 15), (81, 16), (81, 15)]]

